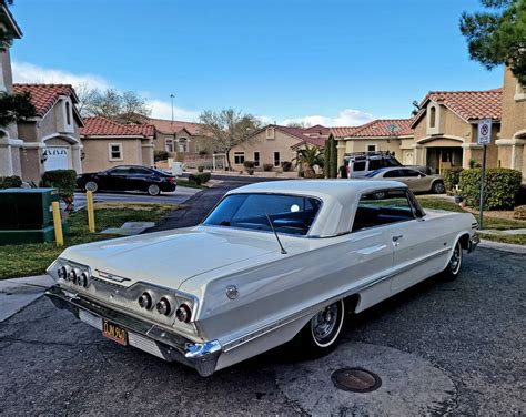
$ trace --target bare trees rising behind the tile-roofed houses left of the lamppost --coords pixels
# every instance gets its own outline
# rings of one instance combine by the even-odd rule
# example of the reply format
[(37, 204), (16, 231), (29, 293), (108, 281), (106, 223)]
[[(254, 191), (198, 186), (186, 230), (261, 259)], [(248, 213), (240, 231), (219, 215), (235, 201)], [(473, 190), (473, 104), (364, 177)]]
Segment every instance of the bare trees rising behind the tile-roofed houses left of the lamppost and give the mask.
[(81, 87), (81, 95), (79, 100), (83, 116), (104, 116), (119, 123), (141, 123), (151, 114), (146, 100), (133, 91), (100, 91), (84, 85)]

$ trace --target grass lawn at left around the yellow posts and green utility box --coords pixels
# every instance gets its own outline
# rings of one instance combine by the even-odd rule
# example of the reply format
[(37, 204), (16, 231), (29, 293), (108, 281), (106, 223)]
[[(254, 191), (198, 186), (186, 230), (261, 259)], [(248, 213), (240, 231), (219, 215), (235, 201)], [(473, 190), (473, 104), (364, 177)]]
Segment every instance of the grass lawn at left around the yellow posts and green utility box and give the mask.
[[(176, 206), (170, 204), (95, 204), (97, 231), (120, 227), (125, 222), (156, 222)], [(0, 279), (20, 276), (41, 275), (60, 253), (68, 246), (102, 241), (119, 235), (89, 233), (88, 214), (81, 210), (69, 217), (70, 232), (64, 237), (64, 246), (54, 243), (31, 243), (0, 246)]]

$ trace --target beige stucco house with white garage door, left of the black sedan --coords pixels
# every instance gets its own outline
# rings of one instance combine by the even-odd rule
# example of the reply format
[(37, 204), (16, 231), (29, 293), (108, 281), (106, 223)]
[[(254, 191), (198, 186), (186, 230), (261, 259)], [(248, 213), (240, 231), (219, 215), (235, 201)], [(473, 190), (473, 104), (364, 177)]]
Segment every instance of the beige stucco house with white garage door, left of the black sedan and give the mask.
[(28, 91), (37, 110), (34, 118), (18, 122), (22, 139), (21, 176), (39, 182), (45, 171), (75, 170), (82, 173), (79, 99), (69, 84), (14, 84), (13, 92)]

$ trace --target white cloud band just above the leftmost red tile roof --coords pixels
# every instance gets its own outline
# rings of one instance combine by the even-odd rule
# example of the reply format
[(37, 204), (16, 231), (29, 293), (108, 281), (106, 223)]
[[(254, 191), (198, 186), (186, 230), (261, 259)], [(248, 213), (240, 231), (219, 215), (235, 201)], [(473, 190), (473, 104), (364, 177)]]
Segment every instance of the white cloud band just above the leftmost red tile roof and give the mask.
[(87, 84), (92, 89), (108, 89), (111, 87), (109, 81), (99, 75), (89, 73), (73, 74), (68, 71), (43, 68), (28, 62), (14, 61), (12, 63), (12, 71), (13, 81), (17, 83)]

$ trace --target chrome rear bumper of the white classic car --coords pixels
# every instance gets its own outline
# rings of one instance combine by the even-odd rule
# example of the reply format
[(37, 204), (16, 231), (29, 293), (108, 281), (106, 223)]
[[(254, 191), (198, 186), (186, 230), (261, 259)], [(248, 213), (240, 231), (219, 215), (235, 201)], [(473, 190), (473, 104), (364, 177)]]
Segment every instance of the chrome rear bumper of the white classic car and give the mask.
[(201, 376), (210, 376), (215, 370), (222, 346), (218, 340), (194, 343), (169, 333), (165, 328), (108, 308), (85, 297), (64, 292), (58, 285), (45, 295), (58, 308), (69, 309), (73, 315), (91, 326), (102, 329), (102, 319), (111, 321), (128, 330), (128, 344), (168, 362), (188, 365)]

